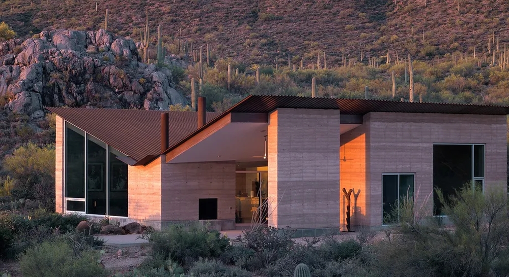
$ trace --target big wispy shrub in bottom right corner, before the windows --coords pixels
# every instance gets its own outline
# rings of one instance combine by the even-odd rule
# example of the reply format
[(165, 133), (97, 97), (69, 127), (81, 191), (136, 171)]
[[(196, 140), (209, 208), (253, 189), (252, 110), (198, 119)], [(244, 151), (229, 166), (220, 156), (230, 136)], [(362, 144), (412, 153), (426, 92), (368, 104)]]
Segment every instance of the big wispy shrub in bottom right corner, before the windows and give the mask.
[[(506, 276), (509, 260), (509, 209), (506, 193), (472, 190), (471, 184), (457, 191), (444, 203), (443, 211), (454, 228), (442, 221), (428, 220), (407, 213), (396, 235), (373, 247), (371, 271), (379, 276)], [(405, 255), (401, 255), (405, 253)]]

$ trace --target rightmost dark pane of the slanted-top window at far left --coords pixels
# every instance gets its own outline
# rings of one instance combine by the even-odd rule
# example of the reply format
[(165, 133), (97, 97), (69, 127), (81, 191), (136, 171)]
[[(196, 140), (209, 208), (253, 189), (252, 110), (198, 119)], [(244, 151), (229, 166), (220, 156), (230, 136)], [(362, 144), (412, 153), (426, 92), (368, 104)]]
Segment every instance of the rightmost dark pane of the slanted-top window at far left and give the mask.
[(127, 216), (127, 164), (117, 159), (122, 153), (109, 147), (109, 215)]

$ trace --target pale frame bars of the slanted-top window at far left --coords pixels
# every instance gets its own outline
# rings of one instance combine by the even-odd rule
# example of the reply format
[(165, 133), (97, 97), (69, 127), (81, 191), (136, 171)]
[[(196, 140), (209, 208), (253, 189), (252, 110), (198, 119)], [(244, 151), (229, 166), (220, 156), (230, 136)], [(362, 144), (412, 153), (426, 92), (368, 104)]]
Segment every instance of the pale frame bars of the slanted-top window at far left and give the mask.
[[(85, 195), (84, 195), (84, 198), (75, 198), (75, 197), (67, 197), (66, 196), (66, 189), (67, 189), (67, 152), (66, 152), (66, 141), (67, 141), (67, 126), (71, 125), (73, 126), (74, 128), (76, 129), (79, 129), (81, 131), (83, 131), (83, 134), (84, 134), (84, 174), (85, 174), (85, 178), (84, 178), (84, 191), (85, 191)], [(79, 128), (78, 126), (70, 123), (69, 121), (67, 120), (64, 120), (64, 125), (63, 125), (63, 128), (64, 128), (64, 140), (63, 140), (63, 145), (62, 145), (62, 148), (63, 148), (63, 177), (62, 177), (62, 193), (63, 193), (63, 198), (64, 198), (64, 214), (67, 214), (67, 213), (77, 213), (77, 214), (82, 214), (82, 215), (90, 215), (90, 216), (104, 216), (104, 217), (115, 217), (115, 218), (128, 218), (128, 216), (113, 216), (113, 215), (110, 215), (110, 207), (109, 207), (109, 190), (110, 190), (110, 181), (109, 181), (109, 154), (110, 154), (110, 149), (114, 149), (115, 151), (119, 152), (120, 154), (122, 155), (125, 155), (127, 156), (126, 154), (122, 153), (121, 151), (119, 151), (118, 149), (115, 149), (113, 147), (111, 147), (109, 144), (101, 141), (99, 138), (95, 137), (94, 135), (92, 134), (89, 134), (87, 131)], [(89, 138), (89, 135), (91, 137), (93, 137), (95, 140), (98, 140), (102, 143), (104, 143), (106, 145), (106, 184), (105, 184), (105, 190), (106, 190), (106, 214), (105, 215), (97, 215), (97, 214), (88, 214), (87, 213), (87, 197), (88, 197), (88, 178), (87, 178), (87, 170), (88, 170), (88, 147), (89, 147), (89, 143), (88, 143), (88, 138)], [(127, 165), (129, 166), (129, 165)], [(128, 179), (129, 180), (129, 179)], [(128, 192), (128, 195), (129, 195), (129, 192)], [(81, 211), (69, 211), (67, 210), (67, 201), (78, 201), (78, 202), (84, 202), (84, 211), (81, 212)]]

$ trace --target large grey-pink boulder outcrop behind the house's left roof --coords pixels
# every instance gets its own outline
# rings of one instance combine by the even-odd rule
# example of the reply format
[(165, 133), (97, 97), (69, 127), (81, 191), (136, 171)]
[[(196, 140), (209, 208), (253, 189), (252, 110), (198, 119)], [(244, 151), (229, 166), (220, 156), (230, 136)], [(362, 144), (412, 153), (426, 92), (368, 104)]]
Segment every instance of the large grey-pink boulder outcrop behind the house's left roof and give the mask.
[(0, 98), (32, 118), (43, 117), (45, 106), (166, 110), (184, 104), (168, 68), (140, 61), (132, 40), (103, 29), (43, 31), (0, 44)]

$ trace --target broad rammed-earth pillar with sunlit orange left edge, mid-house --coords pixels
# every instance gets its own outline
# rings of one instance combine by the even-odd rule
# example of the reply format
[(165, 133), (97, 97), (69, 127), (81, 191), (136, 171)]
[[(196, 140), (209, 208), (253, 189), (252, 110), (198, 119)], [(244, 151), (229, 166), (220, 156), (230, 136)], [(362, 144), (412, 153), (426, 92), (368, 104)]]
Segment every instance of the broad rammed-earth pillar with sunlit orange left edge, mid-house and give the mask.
[(277, 109), (268, 126), (268, 224), (338, 228), (340, 111)]

